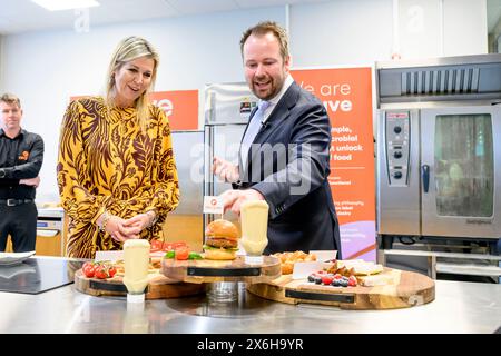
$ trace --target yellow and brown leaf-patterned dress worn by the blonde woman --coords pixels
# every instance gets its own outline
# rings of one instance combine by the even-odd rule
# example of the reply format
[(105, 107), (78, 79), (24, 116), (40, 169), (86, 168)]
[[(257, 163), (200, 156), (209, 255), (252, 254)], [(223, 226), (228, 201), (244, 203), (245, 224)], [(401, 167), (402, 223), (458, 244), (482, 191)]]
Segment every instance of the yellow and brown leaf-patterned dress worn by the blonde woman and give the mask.
[(100, 97), (72, 101), (59, 142), (58, 186), (69, 216), (67, 254), (94, 258), (121, 249), (96, 220), (105, 211), (121, 218), (155, 209), (158, 221), (141, 238), (159, 237), (168, 211), (179, 202), (169, 121), (150, 106), (146, 134), (135, 108), (108, 109)]

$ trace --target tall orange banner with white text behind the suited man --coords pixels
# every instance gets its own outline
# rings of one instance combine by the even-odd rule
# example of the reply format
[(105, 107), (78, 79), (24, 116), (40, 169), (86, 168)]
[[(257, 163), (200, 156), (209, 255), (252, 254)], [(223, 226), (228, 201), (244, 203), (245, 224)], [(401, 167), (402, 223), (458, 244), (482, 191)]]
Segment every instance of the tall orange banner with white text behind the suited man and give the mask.
[(292, 70), (327, 109), (331, 185), (344, 258), (375, 259), (375, 177), (371, 68)]

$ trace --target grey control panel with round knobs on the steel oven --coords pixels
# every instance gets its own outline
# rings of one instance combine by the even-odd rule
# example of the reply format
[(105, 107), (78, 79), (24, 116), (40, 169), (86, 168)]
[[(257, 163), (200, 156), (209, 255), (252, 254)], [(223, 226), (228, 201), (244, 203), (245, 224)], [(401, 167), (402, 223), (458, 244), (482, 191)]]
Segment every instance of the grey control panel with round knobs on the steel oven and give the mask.
[(407, 186), (410, 164), (410, 112), (390, 111), (385, 113), (386, 123), (386, 167), (389, 185)]

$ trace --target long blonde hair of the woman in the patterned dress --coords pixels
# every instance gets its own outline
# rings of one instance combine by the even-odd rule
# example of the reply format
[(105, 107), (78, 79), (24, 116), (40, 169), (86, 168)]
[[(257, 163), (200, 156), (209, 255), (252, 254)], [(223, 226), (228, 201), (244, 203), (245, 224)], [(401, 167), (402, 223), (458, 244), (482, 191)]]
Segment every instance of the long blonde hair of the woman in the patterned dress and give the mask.
[(146, 121), (149, 118), (148, 93), (151, 92), (151, 89), (155, 86), (160, 57), (157, 50), (151, 46), (151, 43), (149, 43), (144, 38), (131, 36), (122, 39), (118, 43), (108, 67), (105, 101), (108, 108), (115, 107), (115, 72), (125, 63), (141, 57), (150, 58), (155, 62), (151, 72), (151, 82), (148, 89), (144, 93), (141, 93), (141, 96), (137, 98), (135, 102), (139, 126), (143, 130), (146, 130)]

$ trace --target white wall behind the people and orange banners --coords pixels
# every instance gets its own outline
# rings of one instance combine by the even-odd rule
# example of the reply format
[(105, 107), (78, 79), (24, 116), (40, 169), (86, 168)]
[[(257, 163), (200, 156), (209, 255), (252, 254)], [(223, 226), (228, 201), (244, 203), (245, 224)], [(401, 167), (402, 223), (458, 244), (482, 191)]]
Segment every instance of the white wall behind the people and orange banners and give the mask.
[[(416, 7), (424, 27), (407, 12)], [(23, 127), (46, 141), (37, 200), (59, 199), (59, 126), (69, 97), (99, 93), (111, 52), (126, 36), (143, 36), (158, 48), (157, 91), (200, 90), (200, 121), (206, 83), (244, 80), (239, 38), (261, 20), (288, 23), (294, 67), (367, 65), (389, 60), (395, 49), (402, 58), (487, 52), (485, 0), (333, 0), (289, 6), (288, 19), (286, 13), (274, 7), (101, 27), (90, 14), (89, 32), (0, 37), (0, 91), (20, 96)]]

